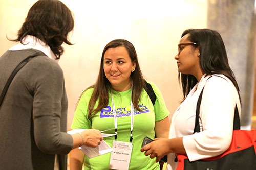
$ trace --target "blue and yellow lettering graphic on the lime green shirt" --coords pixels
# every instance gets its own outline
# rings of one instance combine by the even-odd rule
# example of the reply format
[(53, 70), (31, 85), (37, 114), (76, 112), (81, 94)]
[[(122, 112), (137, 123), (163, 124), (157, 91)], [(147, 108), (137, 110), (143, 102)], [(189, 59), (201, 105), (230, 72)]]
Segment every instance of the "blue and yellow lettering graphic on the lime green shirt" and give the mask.
[[(142, 113), (148, 113), (150, 110), (143, 105), (139, 105), (139, 108), (142, 110), (141, 112), (134, 108), (134, 115), (136, 114), (142, 114)], [(123, 117), (123, 116), (131, 116), (131, 106), (130, 107), (123, 107), (123, 108), (117, 108), (116, 109), (116, 116), (117, 117)], [(114, 112), (111, 106), (106, 106), (104, 109), (100, 111), (100, 118), (104, 117), (114, 117)]]

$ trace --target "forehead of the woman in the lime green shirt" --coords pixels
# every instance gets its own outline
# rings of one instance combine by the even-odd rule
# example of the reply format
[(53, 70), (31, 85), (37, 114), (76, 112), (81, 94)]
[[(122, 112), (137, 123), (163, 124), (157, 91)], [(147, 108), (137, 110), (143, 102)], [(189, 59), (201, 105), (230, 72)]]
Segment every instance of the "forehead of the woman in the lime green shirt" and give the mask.
[(104, 54), (104, 58), (118, 57), (118, 58), (130, 58), (128, 51), (124, 46), (118, 46), (115, 48), (109, 48)]

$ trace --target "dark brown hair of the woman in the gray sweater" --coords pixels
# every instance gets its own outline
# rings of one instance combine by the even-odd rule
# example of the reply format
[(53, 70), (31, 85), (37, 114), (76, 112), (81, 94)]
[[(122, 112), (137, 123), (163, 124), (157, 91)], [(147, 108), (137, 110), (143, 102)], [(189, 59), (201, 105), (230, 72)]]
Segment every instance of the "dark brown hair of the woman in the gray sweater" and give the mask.
[(50, 46), (56, 59), (63, 54), (63, 42), (68, 45), (68, 33), (74, 28), (74, 18), (70, 9), (58, 0), (39, 0), (29, 10), (28, 16), (18, 31), (17, 39), (23, 44), (27, 35), (32, 35)]

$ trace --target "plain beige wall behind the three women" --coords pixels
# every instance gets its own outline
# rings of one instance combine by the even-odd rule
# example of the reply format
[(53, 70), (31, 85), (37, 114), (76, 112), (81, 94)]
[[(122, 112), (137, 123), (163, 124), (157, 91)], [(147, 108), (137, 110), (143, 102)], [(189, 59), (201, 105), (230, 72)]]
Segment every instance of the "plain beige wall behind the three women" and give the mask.
[[(0, 55), (13, 46), (34, 0), (0, 0)], [(65, 75), (69, 99), (68, 127), (81, 92), (97, 78), (102, 50), (116, 38), (132, 42), (144, 77), (161, 90), (169, 118), (182, 99), (174, 56), (181, 33), (187, 28), (205, 28), (205, 0), (179, 1), (78, 1), (63, 0), (74, 13), (72, 46), (65, 45), (59, 64)], [(111, 3), (110, 3), (111, 2)]]

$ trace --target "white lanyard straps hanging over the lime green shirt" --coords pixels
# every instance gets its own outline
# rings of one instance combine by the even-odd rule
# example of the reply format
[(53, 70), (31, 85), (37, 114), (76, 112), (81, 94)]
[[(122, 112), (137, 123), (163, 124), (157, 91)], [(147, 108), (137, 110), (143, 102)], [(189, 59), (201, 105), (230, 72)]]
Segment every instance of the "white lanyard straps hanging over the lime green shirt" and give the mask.
[[(116, 116), (116, 108), (114, 105), (114, 100), (111, 92), (111, 100), (112, 100), (112, 107), (113, 107), (113, 113), (114, 113), (114, 123), (115, 123), (115, 140), (117, 139), (117, 116)], [(133, 141), (133, 121), (134, 121), (134, 107), (133, 102), (131, 100), (131, 135), (130, 135), (130, 142)]]

